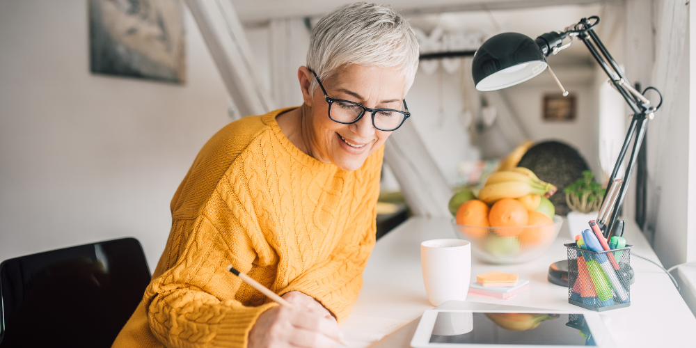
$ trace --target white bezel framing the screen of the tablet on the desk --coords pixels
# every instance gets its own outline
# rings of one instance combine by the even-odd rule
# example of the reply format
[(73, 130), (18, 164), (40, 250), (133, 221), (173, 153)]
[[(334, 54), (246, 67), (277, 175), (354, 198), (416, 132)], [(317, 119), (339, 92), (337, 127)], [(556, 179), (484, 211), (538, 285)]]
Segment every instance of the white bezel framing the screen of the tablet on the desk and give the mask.
[(440, 312), (452, 313), (557, 313), (557, 314), (582, 314), (585, 315), (587, 325), (590, 326), (590, 331), (594, 338), (597, 348), (612, 348), (615, 347), (611, 335), (602, 321), (599, 313), (585, 312), (583, 310), (426, 310), (420, 318), (416, 333), (413, 334), (411, 347), (413, 348), (492, 348), (492, 347), (515, 347), (515, 348), (571, 348), (584, 346), (567, 346), (567, 345), (491, 345), (491, 344), (471, 344), (471, 343), (431, 343), (430, 337), (435, 326), (435, 319)]

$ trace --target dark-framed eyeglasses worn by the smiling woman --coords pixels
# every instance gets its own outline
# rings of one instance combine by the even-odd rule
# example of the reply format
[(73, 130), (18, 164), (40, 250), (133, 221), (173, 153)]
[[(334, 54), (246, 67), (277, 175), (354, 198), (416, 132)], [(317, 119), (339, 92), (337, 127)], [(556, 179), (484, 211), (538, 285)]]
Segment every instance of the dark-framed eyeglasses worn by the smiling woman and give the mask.
[[(326, 102), (329, 103), (329, 118), (334, 122), (350, 125), (363, 118), (365, 111), (367, 111), (372, 113), (372, 125), (375, 128), (381, 131), (391, 132), (401, 127), (404, 121), (406, 121), (406, 118), (411, 116), (409, 106), (406, 105), (405, 99), (402, 100), (402, 102), (404, 102), (404, 111), (400, 111), (394, 109), (370, 109), (349, 100), (330, 98), (329, 95), (326, 94), (326, 89), (322, 86), (322, 81), (319, 81), (317, 73), (313, 70), (310, 71), (314, 74), (317, 82), (319, 82), (319, 87), (321, 87), (324, 92)], [(335, 104), (335, 107), (333, 107), (333, 104)]]

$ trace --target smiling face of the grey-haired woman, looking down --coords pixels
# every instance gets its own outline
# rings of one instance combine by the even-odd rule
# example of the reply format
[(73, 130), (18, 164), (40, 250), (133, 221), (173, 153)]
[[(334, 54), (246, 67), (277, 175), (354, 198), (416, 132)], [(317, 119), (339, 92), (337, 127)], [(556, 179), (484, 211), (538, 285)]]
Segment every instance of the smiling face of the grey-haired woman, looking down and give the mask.
[[(305, 104), (310, 106), (308, 138), (312, 155), (324, 163), (333, 163), (345, 171), (360, 168), (372, 152), (381, 147), (391, 132), (372, 126), (372, 113), (351, 125), (343, 125), (329, 118), (329, 103), (322, 88), (315, 88), (309, 97), (309, 79), (315, 79), (307, 68), (301, 67), (300, 84)], [(349, 100), (371, 109), (402, 110), (406, 81), (398, 68), (379, 68), (349, 65), (322, 81), (331, 98)], [(332, 107), (338, 107), (334, 105)]]

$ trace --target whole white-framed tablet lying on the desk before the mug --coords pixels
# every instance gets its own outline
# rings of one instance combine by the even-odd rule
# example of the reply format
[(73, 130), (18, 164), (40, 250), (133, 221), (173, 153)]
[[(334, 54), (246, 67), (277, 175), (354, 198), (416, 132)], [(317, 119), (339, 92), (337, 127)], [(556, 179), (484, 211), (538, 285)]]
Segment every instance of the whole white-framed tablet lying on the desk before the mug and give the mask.
[(426, 310), (411, 347), (614, 347), (598, 313)]

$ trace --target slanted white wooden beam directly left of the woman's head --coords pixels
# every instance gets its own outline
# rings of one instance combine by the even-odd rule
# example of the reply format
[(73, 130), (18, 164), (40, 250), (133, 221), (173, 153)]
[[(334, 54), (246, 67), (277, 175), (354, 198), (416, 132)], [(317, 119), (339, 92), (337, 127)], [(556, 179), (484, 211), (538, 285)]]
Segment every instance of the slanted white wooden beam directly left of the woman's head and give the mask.
[(244, 28), (229, 0), (184, 0), (241, 115), (276, 109), (256, 72)]

